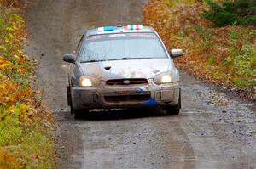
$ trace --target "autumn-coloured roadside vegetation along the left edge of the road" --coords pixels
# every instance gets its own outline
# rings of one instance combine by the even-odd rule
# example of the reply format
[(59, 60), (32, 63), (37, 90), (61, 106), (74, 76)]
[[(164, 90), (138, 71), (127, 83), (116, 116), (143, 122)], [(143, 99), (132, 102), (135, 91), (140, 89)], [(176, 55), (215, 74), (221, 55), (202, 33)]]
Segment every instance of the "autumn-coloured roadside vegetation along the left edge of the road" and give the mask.
[(22, 49), (25, 21), (0, 8), (0, 168), (53, 168), (55, 124), (30, 85), (36, 65)]

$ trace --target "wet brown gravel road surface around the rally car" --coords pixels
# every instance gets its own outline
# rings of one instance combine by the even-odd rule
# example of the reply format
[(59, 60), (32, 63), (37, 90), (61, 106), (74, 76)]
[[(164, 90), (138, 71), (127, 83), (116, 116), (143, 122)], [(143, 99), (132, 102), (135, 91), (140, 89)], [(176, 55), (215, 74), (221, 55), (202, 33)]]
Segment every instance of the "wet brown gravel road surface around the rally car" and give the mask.
[(182, 114), (162, 110), (92, 112), (67, 108), (67, 65), (80, 35), (101, 25), (139, 23), (143, 0), (31, 0), (27, 53), (59, 126), (60, 168), (256, 168), (255, 106), (182, 75)]

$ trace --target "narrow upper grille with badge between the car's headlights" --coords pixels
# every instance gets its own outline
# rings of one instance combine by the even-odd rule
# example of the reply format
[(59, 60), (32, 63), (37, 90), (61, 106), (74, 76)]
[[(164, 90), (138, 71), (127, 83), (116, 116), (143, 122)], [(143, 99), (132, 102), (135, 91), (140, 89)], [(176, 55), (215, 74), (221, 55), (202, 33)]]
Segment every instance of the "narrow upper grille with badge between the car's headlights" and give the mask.
[(143, 78), (131, 78), (131, 79), (112, 79), (106, 82), (107, 85), (137, 85), (137, 84), (148, 84), (147, 79)]

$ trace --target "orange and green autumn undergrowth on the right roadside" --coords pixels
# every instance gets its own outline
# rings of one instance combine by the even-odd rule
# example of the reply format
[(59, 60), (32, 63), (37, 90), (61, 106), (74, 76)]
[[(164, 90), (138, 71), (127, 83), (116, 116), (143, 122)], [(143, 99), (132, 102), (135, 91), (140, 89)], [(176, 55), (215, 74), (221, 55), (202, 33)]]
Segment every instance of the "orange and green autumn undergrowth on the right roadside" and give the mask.
[(150, 0), (143, 22), (159, 32), (169, 50), (183, 48), (183, 57), (175, 59), (180, 69), (255, 101), (256, 28), (213, 28), (203, 19), (204, 10), (207, 5), (198, 1)]

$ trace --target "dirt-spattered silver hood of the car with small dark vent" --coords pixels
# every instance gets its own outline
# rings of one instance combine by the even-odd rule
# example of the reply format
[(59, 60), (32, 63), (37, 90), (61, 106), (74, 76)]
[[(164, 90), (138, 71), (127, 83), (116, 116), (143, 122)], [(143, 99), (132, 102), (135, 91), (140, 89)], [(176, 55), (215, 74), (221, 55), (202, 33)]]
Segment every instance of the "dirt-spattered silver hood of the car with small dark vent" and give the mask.
[(96, 76), (103, 81), (120, 78), (153, 78), (166, 71), (175, 72), (172, 59), (113, 60), (81, 64), (84, 75)]

